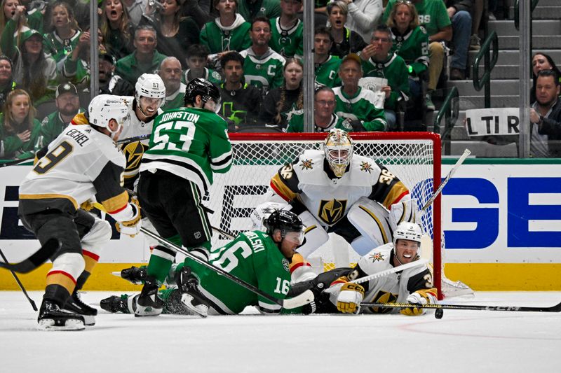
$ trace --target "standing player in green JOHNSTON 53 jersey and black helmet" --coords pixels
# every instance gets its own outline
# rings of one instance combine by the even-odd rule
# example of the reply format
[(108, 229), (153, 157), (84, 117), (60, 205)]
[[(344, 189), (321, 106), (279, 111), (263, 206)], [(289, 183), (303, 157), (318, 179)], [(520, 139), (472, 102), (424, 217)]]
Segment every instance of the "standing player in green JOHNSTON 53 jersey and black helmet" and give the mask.
[[(158, 115), (149, 148), (140, 164), (138, 197), (158, 234), (208, 260), (210, 222), (201, 201), (213, 173), (231, 166), (227, 122), (215, 114), (217, 87), (197, 78), (185, 89), (186, 108)], [(138, 298), (137, 315), (159, 314), (159, 283), (168, 275), (175, 251), (156, 246), (147, 267), (147, 280)]]

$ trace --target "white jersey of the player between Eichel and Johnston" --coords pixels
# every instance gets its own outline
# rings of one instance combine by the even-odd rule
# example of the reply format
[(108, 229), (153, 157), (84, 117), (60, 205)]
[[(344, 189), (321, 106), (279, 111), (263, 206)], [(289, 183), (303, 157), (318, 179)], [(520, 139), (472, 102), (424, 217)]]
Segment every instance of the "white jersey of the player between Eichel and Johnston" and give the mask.
[[(161, 108), (158, 108), (157, 115), (154, 117), (149, 118), (150, 120), (147, 122), (142, 122), (142, 120), (138, 119), (135, 113), (135, 105), (134, 97), (133, 96), (121, 96), (121, 100), (125, 102), (128, 106), (128, 114), (129, 114), (129, 122), (128, 125), (123, 127), (123, 132), (119, 136), (120, 140), (130, 139), (131, 137), (137, 137), (142, 135), (149, 135), (152, 133), (152, 127), (154, 125), (154, 118), (157, 115), (163, 113)], [(133, 141), (130, 143), (123, 143), (121, 149), (125, 154), (126, 158), (126, 169), (125, 169), (125, 183), (126, 186), (130, 189), (133, 189), (133, 181), (135, 180), (136, 176), (138, 175), (138, 168), (140, 167), (140, 161), (142, 160), (142, 155), (144, 155), (144, 151), (148, 148), (149, 139), (145, 139), (142, 141)]]

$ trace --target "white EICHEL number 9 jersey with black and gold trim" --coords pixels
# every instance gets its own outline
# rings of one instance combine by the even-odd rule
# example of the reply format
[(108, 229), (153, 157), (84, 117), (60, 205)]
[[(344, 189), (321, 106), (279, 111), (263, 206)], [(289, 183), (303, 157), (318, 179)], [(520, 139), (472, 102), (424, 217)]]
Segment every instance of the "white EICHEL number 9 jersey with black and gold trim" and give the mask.
[(74, 211), (93, 196), (109, 213), (127, 206), (121, 184), (125, 157), (109, 136), (90, 125), (69, 125), (37, 157), (20, 185), (20, 213)]

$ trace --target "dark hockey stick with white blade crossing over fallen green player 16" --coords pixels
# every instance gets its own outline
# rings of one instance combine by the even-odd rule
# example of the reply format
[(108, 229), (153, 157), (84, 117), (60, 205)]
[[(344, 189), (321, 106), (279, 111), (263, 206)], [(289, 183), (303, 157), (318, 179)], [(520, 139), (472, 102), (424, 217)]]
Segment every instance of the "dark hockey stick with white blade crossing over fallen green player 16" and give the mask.
[(161, 244), (163, 244), (163, 246), (167, 246), (168, 248), (171, 248), (175, 251), (179, 251), (180, 253), (187, 256), (187, 258), (189, 258), (191, 260), (194, 260), (198, 264), (203, 265), (204, 267), (207, 267), (208, 269), (211, 269), (212, 271), (215, 271), (218, 274), (221, 274), (222, 276), (226, 277), (227, 279), (237, 283), (239, 286), (242, 286), (243, 288), (246, 288), (246, 289), (250, 290), (250, 292), (259, 295), (259, 297), (264, 297), (266, 300), (270, 300), (271, 302), (276, 303), (280, 307), (283, 307), (285, 309), (294, 309), (294, 308), (297, 308), (297, 307), (302, 307), (306, 304), (309, 304), (311, 301), (313, 301), (313, 293), (311, 292), (311, 290), (306, 290), (306, 291), (304, 291), (304, 293), (302, 293), (300, 295), (297, 295), (296, 297), (288, 298), (288, 299), (285, 299), (285, 300), (281, 300), (281, 299), (278, 299), (276, 297), (271, 297), (271, 295), (265, 293), (262, 290), (259, 290), (258, 288), (256, 288), (252, 284), (247, 283), (247, 282), (243, 281), (242, 279), (239, 279), (238, 277), (234, 276), (233, 274), (230, 274), (229, 272), (224, 271), (224, 269), (222, 269), (222, 268), (216, 267), (215, 265), (212, 265), (209, 262), (207, 262), (205, 260), (202, 260), (201, 258), (198, 258), (197, 256), (189, 253), (189, 251), (187, 251), (187, 249), (182, 248), (180, 246), (177, 246), (176, 244), (173, 244), (172, 242), (168, 241), (167, 239), (164, 239), (163, 237), (158, 236), (158, 234), (156, 234), (154, 232), (151, 232), (151, 231), (147, 230), (146, 228), (141, 227), (140, 232), (146, 234), (149, 237), (152, 237), (153, 239), (156, 239)]

